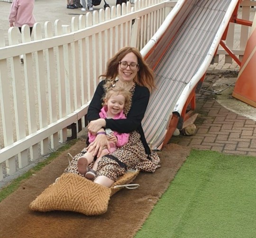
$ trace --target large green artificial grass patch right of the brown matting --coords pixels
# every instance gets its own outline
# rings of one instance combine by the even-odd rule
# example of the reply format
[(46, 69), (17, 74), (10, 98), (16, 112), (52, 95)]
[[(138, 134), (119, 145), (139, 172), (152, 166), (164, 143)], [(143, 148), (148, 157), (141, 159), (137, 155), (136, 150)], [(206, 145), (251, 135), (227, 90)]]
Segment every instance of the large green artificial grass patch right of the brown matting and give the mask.
[(192, 150), (135, 238), (256, 238), (256, 157)]

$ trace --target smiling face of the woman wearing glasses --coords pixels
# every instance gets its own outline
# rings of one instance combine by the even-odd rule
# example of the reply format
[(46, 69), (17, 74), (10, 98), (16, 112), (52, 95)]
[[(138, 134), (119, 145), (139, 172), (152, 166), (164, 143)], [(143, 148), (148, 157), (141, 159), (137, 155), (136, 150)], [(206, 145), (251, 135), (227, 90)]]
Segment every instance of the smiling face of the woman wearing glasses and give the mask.
[[(133, 52), (130, 52), (123, 59), (121, 59), (120, 62), (127, 63), (128, 65), (130, 64), (134, 65), (134, 64), (138, 64), (138, 59)], [(129, 66), (126, 69), (123, 69), (120, 67), (120, 64), (119, 64), (119, 67), (118, 67), (119, 80), (123, 83), (128, 83), (128, 84), (132, 83), (133, 79), (137, 75), (138, 70), (139, 70), (139, 67), (137, 67), (135, 70), (132, 70), (130, 69)]]

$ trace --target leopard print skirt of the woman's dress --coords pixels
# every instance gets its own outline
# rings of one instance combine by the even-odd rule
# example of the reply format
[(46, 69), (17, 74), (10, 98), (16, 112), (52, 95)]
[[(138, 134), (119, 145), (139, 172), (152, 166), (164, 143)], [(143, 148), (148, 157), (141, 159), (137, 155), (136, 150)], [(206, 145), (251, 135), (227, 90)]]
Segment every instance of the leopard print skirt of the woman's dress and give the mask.
[[(83, 149), (81, 153), (75, 155), (64, 172), (81, 175), (77, 170), (77, 160), (85, 152), (86, 150)], [(140, 135), (137, 131), (131, 132), (128, 143), (119, 147), (110, 155), (117, 160), (113, 160), (111, 156), (108, 155), (103, 156), (98, 163), (96, 178), (98, 176), (106, 176), (113, 181), (117, 181), (127, 170), (138, 169), (146, 172), (155, 172), (155, 170), (160, 167), (160, 157), (155, 152), (152, 152), (149, 156), (145, 153)], [(121, 166), (120, 164), (124, 164), (125, 166)], [(92, 166), (93, 162), (89, 165), (89, 169), (92, 168)]]

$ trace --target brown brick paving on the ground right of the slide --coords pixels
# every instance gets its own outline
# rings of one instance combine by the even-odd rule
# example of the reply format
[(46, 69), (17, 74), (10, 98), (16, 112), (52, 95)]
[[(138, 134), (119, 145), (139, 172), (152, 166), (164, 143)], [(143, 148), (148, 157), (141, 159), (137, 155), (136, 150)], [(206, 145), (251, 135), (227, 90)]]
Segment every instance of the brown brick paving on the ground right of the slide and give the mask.
[[(236, 63), (224, 64), (224, 60), (211, 65), (202, 89), (212, 91), (213, 83), (229, 73), (237, 73)], [(200, 150), (212, 150), (227, 154), (256, 156), (256, 121), (227, 110), (213, 94), (201, 91), (197, 94), (196, 113), (199, 113), (193, 136), (173, 136), (171, 143)]]

